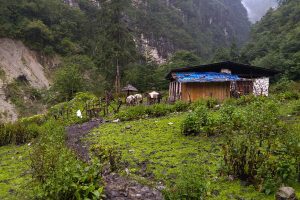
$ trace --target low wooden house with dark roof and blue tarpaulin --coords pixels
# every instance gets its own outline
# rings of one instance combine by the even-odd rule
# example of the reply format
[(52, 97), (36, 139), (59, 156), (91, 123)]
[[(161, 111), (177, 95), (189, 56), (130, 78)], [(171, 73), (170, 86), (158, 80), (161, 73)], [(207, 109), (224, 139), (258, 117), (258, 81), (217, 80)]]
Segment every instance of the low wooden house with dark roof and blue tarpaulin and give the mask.
[(170, 101), (224, 100), (269, 94), (269, 78), (278, 71), (231, 61), (173, 69), (167, 79)]

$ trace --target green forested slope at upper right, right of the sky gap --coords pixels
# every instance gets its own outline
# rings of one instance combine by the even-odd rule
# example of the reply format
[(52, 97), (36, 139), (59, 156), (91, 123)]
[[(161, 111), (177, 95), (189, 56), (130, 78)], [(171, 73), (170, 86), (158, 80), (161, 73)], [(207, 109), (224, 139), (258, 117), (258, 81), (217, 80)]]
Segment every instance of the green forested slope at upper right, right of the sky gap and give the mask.
[(300, 1), (282, 1), (254, 25), (251, 40), (243, 50), (245, 61), (282, 70), (300, 79)]

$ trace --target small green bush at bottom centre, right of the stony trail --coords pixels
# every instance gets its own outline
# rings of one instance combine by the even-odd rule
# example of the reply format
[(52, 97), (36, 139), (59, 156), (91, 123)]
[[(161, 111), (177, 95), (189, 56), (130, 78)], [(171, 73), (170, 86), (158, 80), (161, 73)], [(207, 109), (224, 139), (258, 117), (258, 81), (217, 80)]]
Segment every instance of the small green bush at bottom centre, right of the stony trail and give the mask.
[(176, 179), (175, 185), (163, 192), (164, 197), (166, 200), (205, 199), (208, 188), (208, 183), (205, 178), (204, 170), (193, 165), (186, 166)]

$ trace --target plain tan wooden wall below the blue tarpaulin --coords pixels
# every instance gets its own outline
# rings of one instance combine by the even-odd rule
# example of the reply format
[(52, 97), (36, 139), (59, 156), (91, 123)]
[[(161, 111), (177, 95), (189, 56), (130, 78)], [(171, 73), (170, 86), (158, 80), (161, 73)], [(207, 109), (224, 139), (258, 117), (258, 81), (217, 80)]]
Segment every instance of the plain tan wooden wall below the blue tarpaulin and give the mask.
[(230, 82), (183, 83), (181, 91), (182, 100), (187, 102), (209, 98), (224, 100), (230, 98)]

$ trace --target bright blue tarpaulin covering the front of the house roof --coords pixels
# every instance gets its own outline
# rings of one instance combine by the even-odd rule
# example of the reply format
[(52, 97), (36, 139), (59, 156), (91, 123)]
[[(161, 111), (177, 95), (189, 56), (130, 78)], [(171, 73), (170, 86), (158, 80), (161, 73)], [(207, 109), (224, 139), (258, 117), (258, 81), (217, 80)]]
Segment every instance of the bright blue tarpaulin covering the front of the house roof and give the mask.
[(216, 72), (176, 72), (174, 77), (180, 83), (190, 82), (226, 82), (238, 81), (241, 78), (237, 75), (216, 73)]

